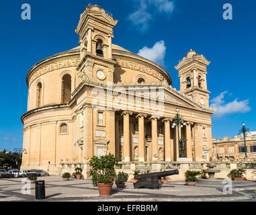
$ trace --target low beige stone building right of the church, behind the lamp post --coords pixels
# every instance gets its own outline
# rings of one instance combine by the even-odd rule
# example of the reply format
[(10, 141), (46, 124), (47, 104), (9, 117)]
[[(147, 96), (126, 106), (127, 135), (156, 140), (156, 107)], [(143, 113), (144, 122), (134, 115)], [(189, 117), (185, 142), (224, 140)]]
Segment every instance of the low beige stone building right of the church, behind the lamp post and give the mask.
[(256, 132), (249, 132), (247, 137), (234, 136), (217, 140), (212, 139), (213, 158), (217, 161), (243, 161), (245, 160), (245, 143), (247, 146), (247, 160), (256, 161)]

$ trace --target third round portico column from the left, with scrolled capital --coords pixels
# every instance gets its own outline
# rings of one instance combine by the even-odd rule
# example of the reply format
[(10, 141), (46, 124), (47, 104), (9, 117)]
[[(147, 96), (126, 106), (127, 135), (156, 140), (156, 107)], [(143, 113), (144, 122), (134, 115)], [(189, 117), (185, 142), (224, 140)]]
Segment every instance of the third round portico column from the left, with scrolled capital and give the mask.
[(159, 116), (152, 116), (151, 117), (151, 136), (152, 136), (152, 161), (158, 160), (158, 129), (157, 129), (157, 120)]

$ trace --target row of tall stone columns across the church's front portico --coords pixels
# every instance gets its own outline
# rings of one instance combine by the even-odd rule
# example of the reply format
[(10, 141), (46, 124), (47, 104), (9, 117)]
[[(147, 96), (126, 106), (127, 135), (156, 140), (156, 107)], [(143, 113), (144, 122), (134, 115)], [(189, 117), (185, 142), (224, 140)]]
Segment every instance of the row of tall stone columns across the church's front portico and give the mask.
[[(123, 131), (124, 131), (124, 159), (123, 161), (131, 161), (131, 144), (130, 144), (130, 117), (132, 112), (124, 111), (122, 116), (124, 118)], [(138, 120), (138, 161), (145, 161), (145, 132), (144, 132), (144, 120), (147, 118), (147, 114), (136, 114), (136, 119)], [(158, 123), (163, 122), (164, 129), (164, 160), (165, 161), (177, 161), (179, 158), (179, 139), (181, 138), (181, 128), (175, 126), (175, 129), (171, 128), (172, 120), (171, 118), (162, 119), (159, 116), (151, 116), (151, 160), (157, 161), (159, 152), (159, 135), (158, 135)], [(194, 124), (194, 129), (196, 135), (194, 136), (194, 158), (192, 155), (192, 144), (191, 144), (191, 125), (193, 122), (186, 122), (185, 130), (185, 141), (186, 141), (186, 157), (189, 161), (202, 159), (202, 124)], [(179, 129), (179, 138), (178, 138)], [(198, 158), (198, 159), (197, 159)]]

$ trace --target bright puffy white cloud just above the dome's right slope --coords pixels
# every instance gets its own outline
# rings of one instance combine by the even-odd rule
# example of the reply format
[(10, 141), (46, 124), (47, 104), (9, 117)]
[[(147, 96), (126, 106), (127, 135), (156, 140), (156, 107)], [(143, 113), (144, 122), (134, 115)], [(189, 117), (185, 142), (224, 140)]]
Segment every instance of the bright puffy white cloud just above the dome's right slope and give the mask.
[(142, 49), (138, 51), (138, 55), (163, 65), (165, 58), (165, 50), (165, 42), (161, 40), (156, 42), (152, 48), (144, 46)]

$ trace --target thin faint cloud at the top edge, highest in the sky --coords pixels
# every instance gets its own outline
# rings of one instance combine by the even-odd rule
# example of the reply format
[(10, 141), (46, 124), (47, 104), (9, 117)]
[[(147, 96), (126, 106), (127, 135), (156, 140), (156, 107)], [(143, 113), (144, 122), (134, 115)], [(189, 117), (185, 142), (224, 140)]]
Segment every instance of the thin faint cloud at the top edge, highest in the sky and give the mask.
[[(135, 3), (138, 0), (133, 0)], [(145, 32), (148, 28), (148, 22), (158, 13), (171, 15), (173, 13), (174, 4), (169, 0), (140, 0), (137, 9), (128, 15), (137, 29)]]

